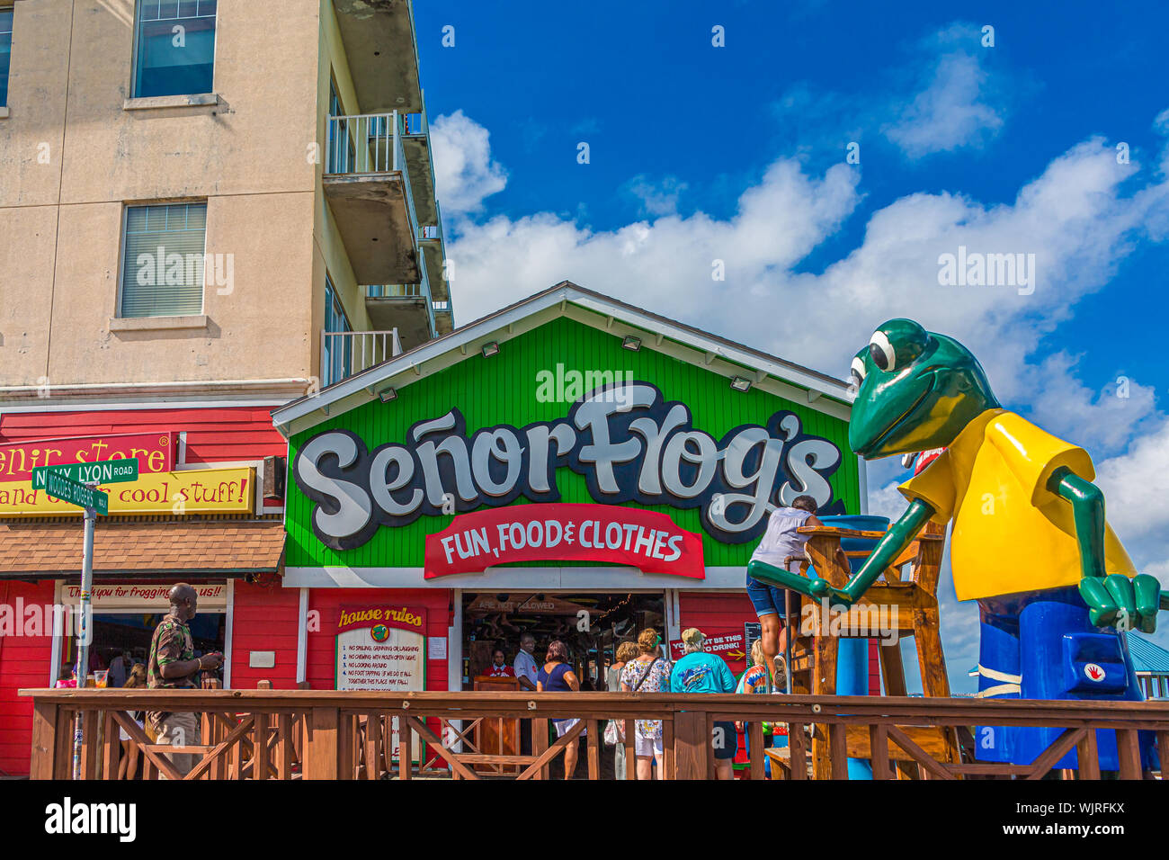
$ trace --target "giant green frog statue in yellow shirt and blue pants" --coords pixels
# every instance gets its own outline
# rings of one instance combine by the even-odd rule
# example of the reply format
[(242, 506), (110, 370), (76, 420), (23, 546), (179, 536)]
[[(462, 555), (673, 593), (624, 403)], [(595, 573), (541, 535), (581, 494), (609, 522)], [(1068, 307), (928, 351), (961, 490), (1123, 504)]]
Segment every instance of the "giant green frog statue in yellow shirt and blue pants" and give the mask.
[[(980, 696), (1141, 699), (1123, 631), (1151, 633), (1169, 592), (1137, 573), (1105, 521), (1087, 453), (999, 406), (969, 350), (911, 319), (877, 329), (852, 383), (858, 455), (945, 452), (901, 484), (908, 508), (843, 589), (758, 562), (750, 576), (850, 606), (927, 522), (953, 522), (954, 590), (981, 614)], [(1058, 734), (980, 727), (978, 757), (1026, 764)], [(1115, 766), (1113, 732), (1099, 735), (1101, 766)]]

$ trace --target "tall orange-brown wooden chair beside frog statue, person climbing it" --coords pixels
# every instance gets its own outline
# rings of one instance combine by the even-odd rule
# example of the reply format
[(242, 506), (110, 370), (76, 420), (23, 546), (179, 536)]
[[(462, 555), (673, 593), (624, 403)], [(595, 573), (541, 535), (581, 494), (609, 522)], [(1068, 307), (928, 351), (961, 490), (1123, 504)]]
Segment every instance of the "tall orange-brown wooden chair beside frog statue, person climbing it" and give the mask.
[[(800, 532), (809, 536), (807, 553), (811, 564), (821, 577), (836, 589), (844, 587), (851, 575), (851, 571), (839, 563), (837, 556), (841, 538), (879, 539), (884, 535), (881, 531), (857, 531), (826, 525), (804, 527)], [(822, 610), (814, 605), (812, 598), (801, 597), (801, 605), (794, 607), (796, 618), (803, 618), (801, 611), (805, 606), (811, 606), (816, 612), (811, 613), (811, 635), (796, 635), (791, 640), (791, 666), (788, 667), (791, 674), (791, 692), (836, 695), (839, 639), (858, 635), (853, 631), (879, 631), (881, 624), (892, 622), (891, 626), (897, 629), (899, 640), (913, 637), (924, 694), (948, 697), (949, 679), (946, 674), (938, 614), (938, 578), (941, 572), (945, 543), (946, 529), (928, 523), (918, 538), (886, 567), (883, 577), (873, 583), (862, 600), (849, 610), (848, 615), (839, 617), (839, 627), (835, 635), (831, 631), (821, 631)], [(867, 550), (845, 551), (848, 557), (867, 555)], [(804, 562), (801, 572), (807, 573), (807, 570), (808, 563)], [(789, 599), (794, 601), (794, 592), (789, 593), (791, 594)], [(892, 617), (894, 610), (895, 618)], [(798, 633), (800, 628), (801, 624), (796, 621), (789, 627), (789, 635)], [(900, 641), (880, 645), (878, 654), (885, 695), (906, 695)], [(953, 730), (912, 725), (899, 728), (914, 743), (936, 755), (941, 761), (954, 764), (961, 761), (957, 736)], [(850, 728), (846, 732), (846, 743), (850, 758), (871, 757), (869, 732), (865, 727)], [(915, 765), (909, 764), (914, 759), (894, 744), (890, 744), (890, 754), (900, 776), (908, 778), (916, 770)], [(817, 729), (812, 737), (812, 778), (826, 779), (829, 775), (828, 739), (823, 736), (822, 729)]]

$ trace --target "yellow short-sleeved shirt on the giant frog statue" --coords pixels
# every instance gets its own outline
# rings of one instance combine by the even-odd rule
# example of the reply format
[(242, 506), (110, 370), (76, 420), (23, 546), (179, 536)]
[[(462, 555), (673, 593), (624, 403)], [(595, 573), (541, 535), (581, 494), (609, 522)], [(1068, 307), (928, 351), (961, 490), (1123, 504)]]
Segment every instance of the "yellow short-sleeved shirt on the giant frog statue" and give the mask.
[[(988, 410), (954, 443), (898, 489), (920, 498), (942, 525), (954, 521), (950, 566), (959, 600), (1079, 585), (1072, 505), (1047, 489), (1066, 466), (1095, 477), (1082, 448), (1057, 439), (1005, 410)], [(1108, 573), (1136, 576), (1116, 535), (1105, 525)]]

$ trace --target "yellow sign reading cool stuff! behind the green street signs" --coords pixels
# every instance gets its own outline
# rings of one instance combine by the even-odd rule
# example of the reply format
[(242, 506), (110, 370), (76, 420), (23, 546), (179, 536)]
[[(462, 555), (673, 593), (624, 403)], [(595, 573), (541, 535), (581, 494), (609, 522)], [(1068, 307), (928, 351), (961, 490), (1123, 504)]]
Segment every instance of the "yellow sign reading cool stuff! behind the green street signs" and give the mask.
[[(256, 469), (189, 469), (140, 473), (133, 483), (101, 484), (110, 494), (110, 516), (129, 514), (251, 514)], [(32, 481), (0, 483), (0, 518), (51, 517), (82, 509), (34, 490)]]

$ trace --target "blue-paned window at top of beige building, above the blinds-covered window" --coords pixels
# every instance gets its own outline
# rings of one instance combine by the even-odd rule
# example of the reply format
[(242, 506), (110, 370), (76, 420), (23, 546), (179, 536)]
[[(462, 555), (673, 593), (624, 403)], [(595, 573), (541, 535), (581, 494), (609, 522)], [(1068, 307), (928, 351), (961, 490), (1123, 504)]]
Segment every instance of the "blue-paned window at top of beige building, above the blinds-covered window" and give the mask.
[(213, 91), (217, 0), (138, 0), (134, 97)]

